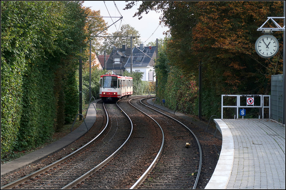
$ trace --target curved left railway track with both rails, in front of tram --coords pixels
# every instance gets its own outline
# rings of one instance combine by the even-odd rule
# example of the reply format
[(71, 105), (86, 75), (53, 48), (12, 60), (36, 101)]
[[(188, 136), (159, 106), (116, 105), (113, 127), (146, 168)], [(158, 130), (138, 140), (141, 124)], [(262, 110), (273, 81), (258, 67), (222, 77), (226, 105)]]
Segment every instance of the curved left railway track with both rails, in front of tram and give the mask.
[(59, 161), (1, 189), (67, 189), (108, 163), (127, 143), (133, 127), (132, 121), (127, 115), (124, 117), (122, 110), (115, 111), (114, 104), (107, 107), (109, 111), (106, 111), (106, 115), (110, 119), (107, 119), (106, 127), (96, 138)]

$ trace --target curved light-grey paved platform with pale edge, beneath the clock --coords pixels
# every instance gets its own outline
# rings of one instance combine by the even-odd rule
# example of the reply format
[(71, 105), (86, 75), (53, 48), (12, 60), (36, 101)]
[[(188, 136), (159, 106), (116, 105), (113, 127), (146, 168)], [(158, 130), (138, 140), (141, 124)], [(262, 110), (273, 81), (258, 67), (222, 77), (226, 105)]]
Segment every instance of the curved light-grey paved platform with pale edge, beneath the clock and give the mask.
[(205, 189), (285, 189), (285, 125), (269, 119), (215, 119), (223, 135)]

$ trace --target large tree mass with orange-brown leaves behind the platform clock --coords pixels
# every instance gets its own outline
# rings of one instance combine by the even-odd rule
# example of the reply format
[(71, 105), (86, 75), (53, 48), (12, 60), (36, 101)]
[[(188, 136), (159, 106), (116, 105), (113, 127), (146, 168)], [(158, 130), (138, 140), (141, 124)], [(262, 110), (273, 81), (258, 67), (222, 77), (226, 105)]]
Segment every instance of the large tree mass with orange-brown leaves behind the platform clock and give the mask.
[[(128, 1), (126, 9), (136, 3)], [(271, 75), (282, 72), (283, 50), (265, 59), (254, 44), (265, 19), (283, 15), (282, 1), (142, 1), (134, 16), (150, 10), (162, 11), (161, 21), (170, 29), (169, 64), (196, 80), (202, 66), (204, 115), (219, 113), (221, 94), (270, 93)], [(281, 32), (273, 35), (282, 39)]]

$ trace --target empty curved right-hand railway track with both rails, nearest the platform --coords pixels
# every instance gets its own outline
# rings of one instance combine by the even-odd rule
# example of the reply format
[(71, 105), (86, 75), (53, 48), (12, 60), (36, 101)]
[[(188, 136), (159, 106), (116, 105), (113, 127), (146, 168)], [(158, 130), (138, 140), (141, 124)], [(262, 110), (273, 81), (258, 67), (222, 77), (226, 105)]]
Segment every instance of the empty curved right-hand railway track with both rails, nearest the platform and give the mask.
[[(156, 118), (158, 125), (162, 127), (166, 135), (166, 141), (163, 144), (162, 152), (158, 153), (162, 155), (160, 159), (156, 160), (156, 166), (151, 166), (145, 173), (147, 175), (154, 167), (152, 172), (138, 180), (132, 189), (138, 188), (141, 183), (143, 185), (140, 188), (144, 189), (185, 189), (190, 187), (195, 189), (202, 163), (202, 151), (197, 137), (180, 121), (144, 105), (141, 100), (135, 101), (134, 105)], [(186, 146), (186, 143), (190, 145)], [(143, 181), (144, 178), (146, 178), (145, 181)]]

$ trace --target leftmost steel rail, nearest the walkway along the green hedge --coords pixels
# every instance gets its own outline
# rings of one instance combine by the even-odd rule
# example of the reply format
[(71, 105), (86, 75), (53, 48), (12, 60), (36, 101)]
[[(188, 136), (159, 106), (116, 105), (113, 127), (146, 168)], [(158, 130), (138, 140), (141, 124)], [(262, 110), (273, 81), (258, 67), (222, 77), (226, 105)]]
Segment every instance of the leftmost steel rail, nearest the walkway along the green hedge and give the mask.
[(109, 123), (109, 118), (108, 118), (108, 114), (107, 114), (107, 111), (105, 110), (105, 114), (106, 114), (106, 117), (107, 117), (107, 121), (106, 121), (106, 125), (104, 127), (104, 129), (96, 136), (94, 137), (94, 139), (92, 139), (90, 142), (88, 142), (86, 145), (80, 147), (79, 149), (77, 149), (76, 151), (70, 153), (69, 155), (63, 157), (62, 159), (59, 159), (58, 161), (54, 162), (54, 163), (51, 163), (50, 165), (47, 165), (46, 167), (43, 167), (42, 169), (39, 169), (29, 175), (26, 175), (16, 181), (13, 181), (11, 183), (8, 183), (7, 185), (4, 185), (1, 187), (1, 189), (11, 189), (17, 185), (20, 185), (21, 183), (24, 183), (25, 181), (27, 181), (28, 179), (30, 178), (34, 178), (36, 177), (37, 175), (39, 175), (39, 173), (44, 173), (46, 171), (48, 171), (49, 169), (52, 169), (53, 167), (67, 161), (68, 159), (74, 157), (76, 154), (78, 154), (79, 152), (83, 151), (84, 149), (88, 148), (92, 143), (94, 143), (103, 133), (104, 131), (107, 129), (107, 126), (108, 126), (108, 123)]

